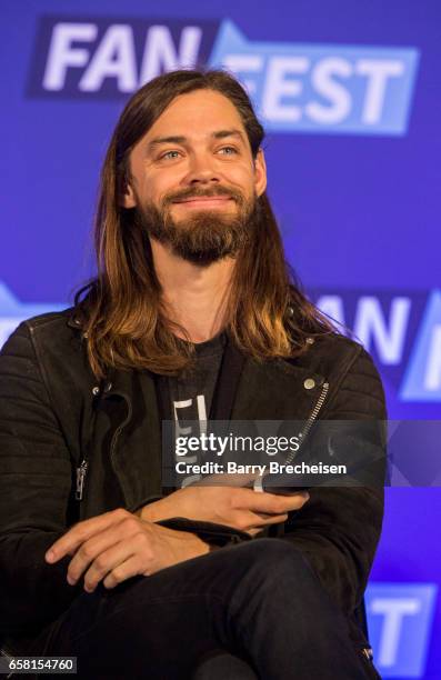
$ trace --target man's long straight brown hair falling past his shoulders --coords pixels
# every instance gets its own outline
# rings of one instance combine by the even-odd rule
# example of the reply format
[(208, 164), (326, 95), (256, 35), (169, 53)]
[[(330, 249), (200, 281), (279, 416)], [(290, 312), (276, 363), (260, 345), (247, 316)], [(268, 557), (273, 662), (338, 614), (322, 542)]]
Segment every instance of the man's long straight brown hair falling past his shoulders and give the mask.
[[(179, 94), (200, 89), (220, 92), (234, 104), (252, 156), (263, 140), (247, 92), (224, 71), (180, 70), (143, 86), (127, 103), (113, 132), (101, 171), (94, 221), (98, 276), (76, 296), (84, 314), (91, 368), (102, 378), (109, 367), (149, 369), (173, 374), (192, 356), (161, 309), (161, 287), (150, 241), (122, 208), (130, 180), (129, 156), (164, 109)], [(279, 228), (268, 196), (257, 204), (255, 238), (238, 257), (227, 308), (227, 328), (239, 349), (257, 360), (295, 356), (307, 338), (334, 327), (304, 296), (284, 260)], [(186, 329), (180, 328), (187, 336)]]

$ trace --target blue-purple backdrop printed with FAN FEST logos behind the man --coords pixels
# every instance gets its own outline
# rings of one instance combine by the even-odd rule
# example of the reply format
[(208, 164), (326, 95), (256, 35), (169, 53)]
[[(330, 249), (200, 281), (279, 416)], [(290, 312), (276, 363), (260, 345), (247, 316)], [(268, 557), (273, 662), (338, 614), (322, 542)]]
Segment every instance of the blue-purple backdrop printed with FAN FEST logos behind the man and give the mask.
[[(130, 93), (167, 69), (222, 64), (268, 130), (269, 193), (311, 298), (373, 354), (390, 418), (441, 420), (437, 0), (3, 0), (0, 16), (0, 344), (90, 273), (99, 168)], [(400, 479), (371, 638), (383, 677), (434, 680), (441, 492), (435, 476)]]

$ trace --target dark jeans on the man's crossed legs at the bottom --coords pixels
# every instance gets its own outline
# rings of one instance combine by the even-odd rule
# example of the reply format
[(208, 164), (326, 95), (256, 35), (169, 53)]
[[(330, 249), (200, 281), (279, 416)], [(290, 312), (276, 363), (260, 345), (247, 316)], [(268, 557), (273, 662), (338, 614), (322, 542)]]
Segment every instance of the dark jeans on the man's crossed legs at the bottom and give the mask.
[(222, 649), (263, 680), (375, 677), (301, 553), (275, 538), (84, 592), (46, 653), (77, 656), (78, 678), (189, 680)]

